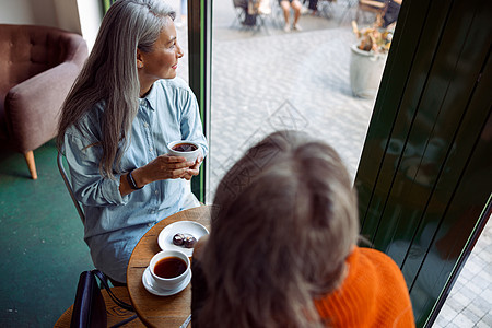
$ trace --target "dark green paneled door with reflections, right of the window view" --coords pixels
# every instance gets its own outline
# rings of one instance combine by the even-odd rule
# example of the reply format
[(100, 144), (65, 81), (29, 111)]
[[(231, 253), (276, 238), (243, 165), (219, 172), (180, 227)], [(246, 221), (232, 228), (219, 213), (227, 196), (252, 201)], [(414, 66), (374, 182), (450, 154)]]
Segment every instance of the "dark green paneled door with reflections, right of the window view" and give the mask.
[(355, 187), (361, 234), (400, 266), (431, 327), (491, 214), (492, 4), (406, 3)]

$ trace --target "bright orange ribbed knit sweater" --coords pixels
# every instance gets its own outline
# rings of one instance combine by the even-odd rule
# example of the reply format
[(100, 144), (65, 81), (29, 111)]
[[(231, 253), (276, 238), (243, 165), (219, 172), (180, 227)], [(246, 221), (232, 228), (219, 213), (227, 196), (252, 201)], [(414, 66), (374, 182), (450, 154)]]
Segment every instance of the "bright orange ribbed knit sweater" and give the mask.
[(347, 262), (342, 285), (315, 301), (327, 327), (415, 327), (403, 274), (390, 257), (356, 247)]

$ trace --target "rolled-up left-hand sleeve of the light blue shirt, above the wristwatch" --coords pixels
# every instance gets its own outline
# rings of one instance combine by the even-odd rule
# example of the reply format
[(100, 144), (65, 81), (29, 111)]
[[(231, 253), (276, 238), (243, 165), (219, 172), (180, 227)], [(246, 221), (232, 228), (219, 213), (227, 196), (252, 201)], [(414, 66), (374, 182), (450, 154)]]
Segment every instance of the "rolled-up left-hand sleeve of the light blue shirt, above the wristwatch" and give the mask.
[(65, 136), (65, 151), (75, 198), (84, 206), (126, 204), (129, 196), (119, 192), (120, 174), (115, 179), (99, 173), (102, 149), (71, 133)]

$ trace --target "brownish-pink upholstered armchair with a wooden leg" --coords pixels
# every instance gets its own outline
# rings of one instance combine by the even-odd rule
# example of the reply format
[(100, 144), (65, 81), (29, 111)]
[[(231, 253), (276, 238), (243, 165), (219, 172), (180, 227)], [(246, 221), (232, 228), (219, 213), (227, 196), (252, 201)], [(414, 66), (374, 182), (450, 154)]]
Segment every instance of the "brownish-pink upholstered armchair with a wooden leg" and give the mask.
[(0, 142), (24, 154), (57, 134), (61, 104), (87, 58), (78, 34), (35, 25), (0, 24)]

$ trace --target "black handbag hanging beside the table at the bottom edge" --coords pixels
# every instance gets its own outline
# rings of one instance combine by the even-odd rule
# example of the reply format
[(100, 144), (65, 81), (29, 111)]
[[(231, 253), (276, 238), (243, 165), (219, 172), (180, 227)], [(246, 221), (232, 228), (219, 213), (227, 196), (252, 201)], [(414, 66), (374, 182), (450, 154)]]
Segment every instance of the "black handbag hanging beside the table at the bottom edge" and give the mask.
[[(106, 289), (116, 305), (124, 309), (134, 312), (134, 308), (130, 304), (122, 302), (113, 294), (107, 283), (107, 277), (103, 272), (99, 270), (84, 271), (79, 278), (70, 328), (107, 327), (106, 304), (103, 294), (101, 293), (99, 285), (97, 284), (96, 277), (101, 281), (102, 288)], [(134, 318), (137, 318), (137, 315), (125, 319), (113, 327), (122, 326)]]

